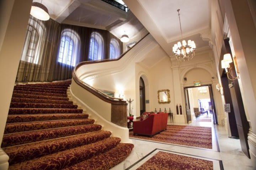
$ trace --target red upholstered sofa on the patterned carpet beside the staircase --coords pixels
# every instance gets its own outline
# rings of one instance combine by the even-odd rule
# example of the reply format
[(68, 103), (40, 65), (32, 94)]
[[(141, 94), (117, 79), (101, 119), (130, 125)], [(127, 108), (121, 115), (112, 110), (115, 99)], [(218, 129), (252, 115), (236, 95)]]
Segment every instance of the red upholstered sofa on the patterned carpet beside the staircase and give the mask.
[(133, 121), (133, 135), (153, 135), (166, 130), (168, 113), (150, 114), (141, 121)]

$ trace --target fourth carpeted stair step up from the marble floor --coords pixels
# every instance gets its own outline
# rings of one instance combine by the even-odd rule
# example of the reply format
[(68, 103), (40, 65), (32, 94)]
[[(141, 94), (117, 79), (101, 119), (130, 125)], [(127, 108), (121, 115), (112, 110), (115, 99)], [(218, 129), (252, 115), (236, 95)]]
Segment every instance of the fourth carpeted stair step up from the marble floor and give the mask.
[(101, 130), (97, 124), (4, 134), (1, 148)]

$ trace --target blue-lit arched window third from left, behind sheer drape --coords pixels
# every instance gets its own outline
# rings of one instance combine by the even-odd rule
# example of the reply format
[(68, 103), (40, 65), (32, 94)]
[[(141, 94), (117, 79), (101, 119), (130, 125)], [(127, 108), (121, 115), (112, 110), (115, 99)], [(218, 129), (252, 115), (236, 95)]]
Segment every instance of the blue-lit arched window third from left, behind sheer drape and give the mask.
[(103, 59), (103, 38), (97, 33), (93, 32), (90, 38), (89, 60)]

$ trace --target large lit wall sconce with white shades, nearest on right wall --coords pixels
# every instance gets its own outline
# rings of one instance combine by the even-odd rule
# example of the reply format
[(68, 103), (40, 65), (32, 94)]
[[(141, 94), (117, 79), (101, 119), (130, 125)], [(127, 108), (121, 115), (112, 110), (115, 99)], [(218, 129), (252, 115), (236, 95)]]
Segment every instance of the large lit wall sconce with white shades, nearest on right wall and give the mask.
[[(230, 53), (224, 54), (223, 60), (222, 60), (222, 68), (225, 68), (226, 74), (227, 74), (229, 80), (235, 80), (235, 79), (239, 78), (239, 69), (238, 69), (238, 66), (237, 66), (235, 56), (234, 56), (233, 60), (234, 60), (234, 66), (235, 66), (236, 72), (237, 72), (236, 77), (234, 77), (231, 73), (231, 67), (230, 67), (229, 63), (232, 63), (233, 61), (232, 61)], [(231, 76), (231, 78), (229, 77), (229, 75)]]

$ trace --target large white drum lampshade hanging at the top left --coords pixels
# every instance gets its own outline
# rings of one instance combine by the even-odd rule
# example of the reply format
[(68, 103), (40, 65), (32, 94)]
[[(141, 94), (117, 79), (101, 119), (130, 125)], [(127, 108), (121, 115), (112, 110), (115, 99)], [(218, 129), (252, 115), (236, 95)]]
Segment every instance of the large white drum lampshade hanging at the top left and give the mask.
[(47, 7), (39, 2), (32, 3), (30, 15), (42, 21), (47, 21), (50, 18)]

